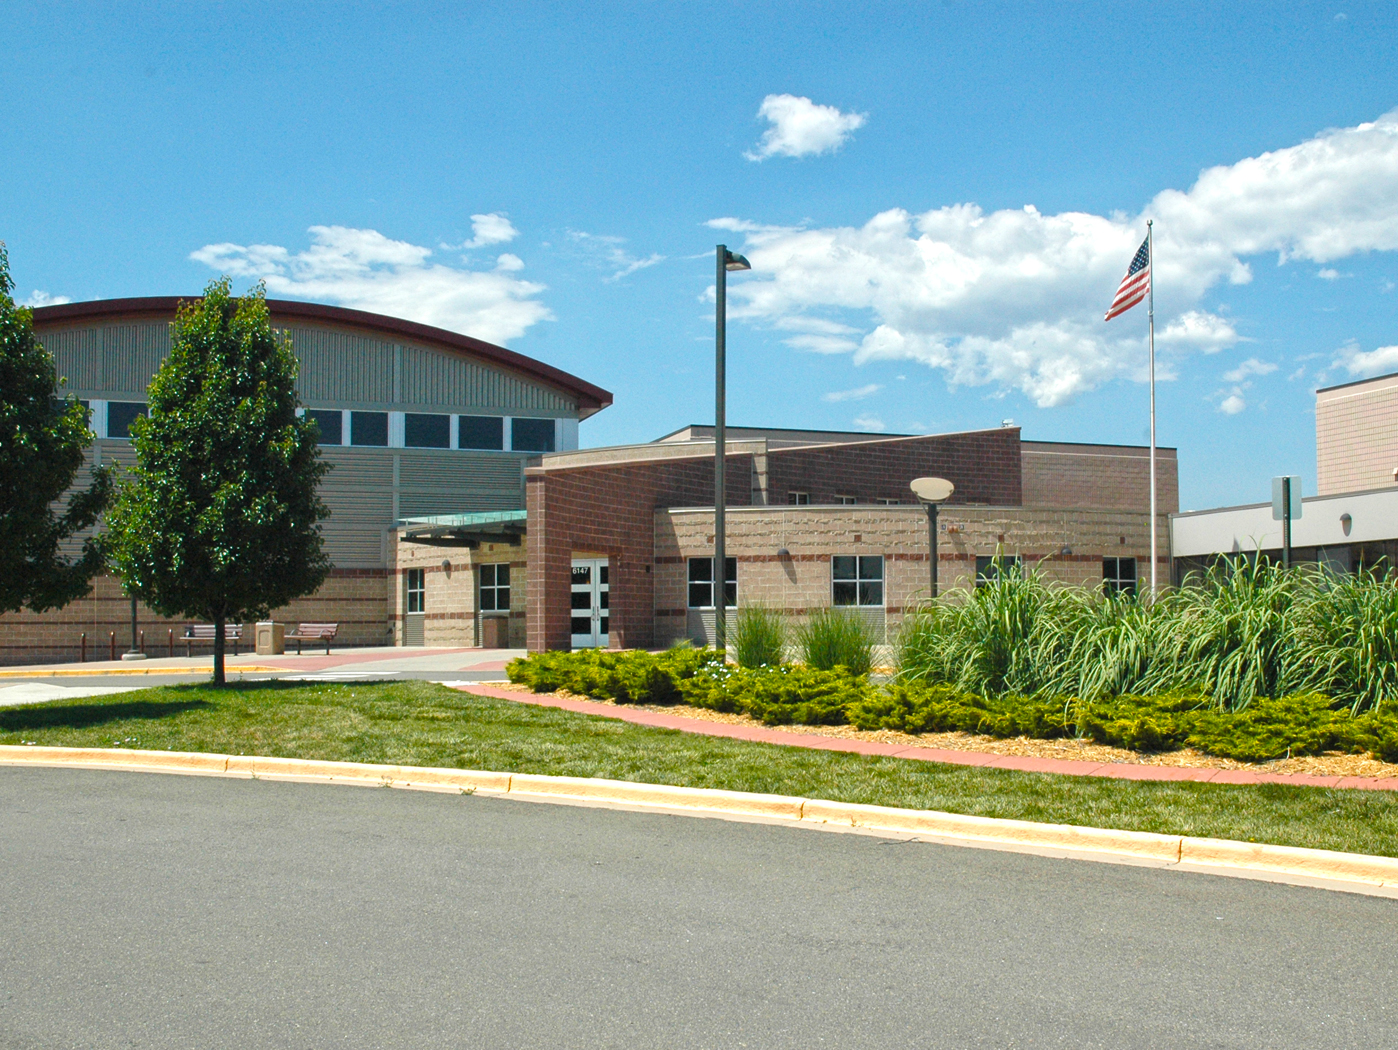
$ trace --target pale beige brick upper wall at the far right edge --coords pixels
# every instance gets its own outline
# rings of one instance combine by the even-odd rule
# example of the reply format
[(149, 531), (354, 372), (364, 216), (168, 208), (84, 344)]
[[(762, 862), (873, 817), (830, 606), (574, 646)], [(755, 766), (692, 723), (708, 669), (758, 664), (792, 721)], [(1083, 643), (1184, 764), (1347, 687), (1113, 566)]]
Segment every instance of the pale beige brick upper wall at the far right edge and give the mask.
[(1391, 488), (1398, 470), (1398, 376), (1316, 391), (1321, 496)]

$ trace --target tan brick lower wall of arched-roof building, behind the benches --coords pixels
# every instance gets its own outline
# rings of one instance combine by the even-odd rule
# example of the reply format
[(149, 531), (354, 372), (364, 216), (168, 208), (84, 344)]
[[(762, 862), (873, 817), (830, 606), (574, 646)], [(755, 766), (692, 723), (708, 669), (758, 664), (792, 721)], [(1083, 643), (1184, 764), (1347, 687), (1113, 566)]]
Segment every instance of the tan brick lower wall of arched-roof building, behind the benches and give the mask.
[[(320, 590), (273, 610), (271, 618), (292, 626), (303, 619), (340, 624), (336, 645), (384, 645), (389, 636), (387, 573), (382, 569), (336, 569)], [(171, 632), (175, 636), (175, 653), (182, 654), (185, 646), (179, 636), (190, 622), (193, 621), (183, 617), (157, 615), (137, 603), (137, 632), (145, 632), (145, 652), (150, 656), (169, 653)], [(116, 577), (99, 576), (85, 598), (60, 610), (0, 615), (0, 663), (77, 660), (84, 633), (89, 660), (108, 657), (113, 633), (117, 654), (130, 647), (131, 600), (123, 594)], [(252, 645), (253, 631), (247, 624), (243, 629), (243, 649), (252, 649)], [(207, 647), (203, 652), (208, 652)]]

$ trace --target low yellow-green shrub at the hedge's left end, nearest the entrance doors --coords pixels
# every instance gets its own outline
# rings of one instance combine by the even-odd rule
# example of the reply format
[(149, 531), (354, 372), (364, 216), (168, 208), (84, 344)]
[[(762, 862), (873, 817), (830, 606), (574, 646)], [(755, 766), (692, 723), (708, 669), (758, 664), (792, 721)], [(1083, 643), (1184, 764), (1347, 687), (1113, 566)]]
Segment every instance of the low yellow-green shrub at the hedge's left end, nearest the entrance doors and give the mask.
[(566, 689), (617, 703), (678, 703), (677, 684), (717, 660), (713, 649), (677, 647), (660, 654), (642, 649), (621, 653), (582, 649), (510, 660), (505, 674), (534, 692)]

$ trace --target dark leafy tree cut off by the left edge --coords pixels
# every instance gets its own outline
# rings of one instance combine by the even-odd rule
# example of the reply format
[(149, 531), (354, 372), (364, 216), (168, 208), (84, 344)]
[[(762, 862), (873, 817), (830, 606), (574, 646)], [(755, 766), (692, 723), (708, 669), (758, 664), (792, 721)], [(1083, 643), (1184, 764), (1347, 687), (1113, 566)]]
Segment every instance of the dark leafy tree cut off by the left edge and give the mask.
[(15, 306), (10, 257), (0, 242), (0, 612), (43, 611), (87, 594), (102, 572), (102, 544), (82, 544), (77, 561), (64, 541), (91, 527), (106, 506), (110, 481), (95, 470), (63, 513), (53, 503), (73, 487), (92, 443), (87, 410), (59, 397), (53, 357), (34, 336), (34, 315)]

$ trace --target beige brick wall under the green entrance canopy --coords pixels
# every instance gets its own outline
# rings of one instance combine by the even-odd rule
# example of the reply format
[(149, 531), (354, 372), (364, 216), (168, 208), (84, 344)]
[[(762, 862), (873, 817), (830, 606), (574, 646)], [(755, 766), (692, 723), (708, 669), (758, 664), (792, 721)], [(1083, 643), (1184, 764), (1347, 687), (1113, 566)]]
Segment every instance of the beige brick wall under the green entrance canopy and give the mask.
[[(407, 617), (407, 570), (422, 569), (426, 587), (426, 615), (422, 624), (425, 646), (475, 646), (477, 632), (475, 570), (480, 565), (503, 562), (510, 566), (509, 646), (523, 649), (527, 636), (524, 547), (509, 544), (481, 544), (468, 547), (435, 547), (414, 544), (396, 535), (391, 541), (393, 594), (390, 622), (393, 645), (404, 645), (403, 626)], [(485, 614), (492, 615), (492, 614)]]

